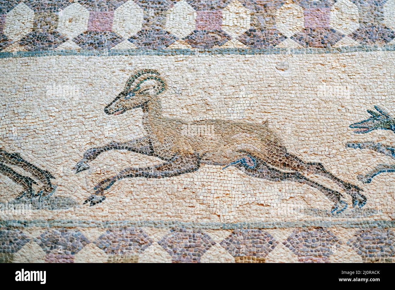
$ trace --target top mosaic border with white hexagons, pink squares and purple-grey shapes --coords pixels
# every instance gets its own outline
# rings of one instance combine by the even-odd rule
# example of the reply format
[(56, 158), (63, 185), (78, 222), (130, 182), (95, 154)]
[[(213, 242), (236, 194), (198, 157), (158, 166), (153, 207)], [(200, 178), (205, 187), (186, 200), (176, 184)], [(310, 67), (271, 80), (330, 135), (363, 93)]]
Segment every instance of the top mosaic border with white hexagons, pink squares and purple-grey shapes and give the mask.
[(383, 46), (394, 11), (393, 0), (2, 0), (0, 51)]

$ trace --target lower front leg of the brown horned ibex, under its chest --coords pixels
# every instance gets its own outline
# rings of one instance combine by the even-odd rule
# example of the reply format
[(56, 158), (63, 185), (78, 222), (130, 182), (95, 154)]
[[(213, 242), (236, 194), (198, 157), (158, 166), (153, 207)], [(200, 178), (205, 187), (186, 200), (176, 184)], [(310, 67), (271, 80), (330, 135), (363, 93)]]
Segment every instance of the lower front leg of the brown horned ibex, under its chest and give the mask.
[(84, 204), (90, 202), (90, 206), (98, 204), (105, 199), (104, 191), (108, 190), (116, 181), (124, 178), (145, 177), (165, 178), (180, 174), (194, 172), (200, 167), (199, 155), (175, 156), (171, 161), (142, 168), (126, 168), (119, 174), (100, 181), (95, 187), (95, 193), (90, 195)]

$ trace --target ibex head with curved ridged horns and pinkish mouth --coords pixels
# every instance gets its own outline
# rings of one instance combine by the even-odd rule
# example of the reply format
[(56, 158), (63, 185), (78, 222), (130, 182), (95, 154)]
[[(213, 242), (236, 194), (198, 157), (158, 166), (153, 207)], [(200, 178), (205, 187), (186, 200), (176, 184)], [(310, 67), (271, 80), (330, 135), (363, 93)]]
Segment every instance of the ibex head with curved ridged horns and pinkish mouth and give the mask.
[(137, 71), (126, 82), (125, 88), (104, 108), (107, 115), (123, 114), (127, 110), (146, 105), (156, 95), (166, 90), (166, 83), (153, 69)]

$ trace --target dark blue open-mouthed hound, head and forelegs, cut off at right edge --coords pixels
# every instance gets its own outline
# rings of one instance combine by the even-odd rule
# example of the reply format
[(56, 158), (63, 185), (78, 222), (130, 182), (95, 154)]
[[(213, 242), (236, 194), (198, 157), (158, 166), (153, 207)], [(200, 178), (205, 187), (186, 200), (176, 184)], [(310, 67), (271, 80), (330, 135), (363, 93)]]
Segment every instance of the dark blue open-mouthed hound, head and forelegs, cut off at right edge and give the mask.
[[(357, 129), (354, 133), (366, 134), (373, 130), (390, 130), (395, 133), (395, 119), (379, 106), (374, 106), (374, 109), (367, 110), (371, 115), (369, 118), (355, 122), (349, 126), (350, 128)], [(386, 146), (379, 142), (348, 142), (346, 143), (346, 148), (370, 149), (395, 159), (395, 147)], [(380, 163), (367, 174), (358, 175), (358, 179), (363, 183), (371, 183), (374, 176), (384, 172), (395, 172), (395, 164)]]

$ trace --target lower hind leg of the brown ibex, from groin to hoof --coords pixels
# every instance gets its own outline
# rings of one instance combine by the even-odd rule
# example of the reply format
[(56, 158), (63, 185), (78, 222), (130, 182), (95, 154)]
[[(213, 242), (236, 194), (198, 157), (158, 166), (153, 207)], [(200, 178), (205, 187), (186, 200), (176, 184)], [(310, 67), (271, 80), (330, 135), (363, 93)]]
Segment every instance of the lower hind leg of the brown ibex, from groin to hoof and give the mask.
[[(254, 157), (252, 155), (248, 155), (248, 157), (254, 159), (255, 166), (253, 168), (251, 167), (248, 168), (241, 162), (234, 163), (233, 166), (239, 168), (247, 175), (252, 177), (263, 178), (271, 181), (286, 181), (286, 180), (296, 181), (299, 183), (304, 183), (306, 185), (309, 185), (310, 187), (313, 187), (315, 189), (318, 189), (319, 191), (324, 193), (324, 195), (329, 200), (334, 202), (334, 205), (331, 209), (332, 213), (335, 211), (336, 213), (340, 213), (347, 208), (347, 203), (340, 199), (340, 197), (342, 197), (341, 193), (329, 189), (315, 181), (308, 179), (307, 177), (303, 176), (300, 172), (282, 172), (276, 168), (270, 167), (262, 159)], [(339, 210), (341, 204), (343, 205), (343, 207)]]

